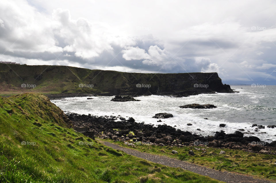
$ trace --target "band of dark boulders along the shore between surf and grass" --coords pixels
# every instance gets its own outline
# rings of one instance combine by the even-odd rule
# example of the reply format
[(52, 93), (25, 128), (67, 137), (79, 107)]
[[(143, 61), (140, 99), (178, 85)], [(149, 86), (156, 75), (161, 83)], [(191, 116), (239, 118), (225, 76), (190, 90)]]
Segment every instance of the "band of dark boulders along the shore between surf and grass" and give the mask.
[(214, 136), (202, 136), (182, 131), (166, 124), (154, 126), (137, 123), (135, 119), (118, 116), (93, 116), (67, 113), (74, 129), (85, 129), (82, 133), (94, 138), (123, 141), (127, 145), (147, 144), (158, 146), (200, 146), (228, 149), (241, 149), (252, 153), (276, 154), (276, 141), (271, 143), (261, 141), (256, 136), (244, 136), (244, 133), (235, 131), (225, 134), (223, 130)]

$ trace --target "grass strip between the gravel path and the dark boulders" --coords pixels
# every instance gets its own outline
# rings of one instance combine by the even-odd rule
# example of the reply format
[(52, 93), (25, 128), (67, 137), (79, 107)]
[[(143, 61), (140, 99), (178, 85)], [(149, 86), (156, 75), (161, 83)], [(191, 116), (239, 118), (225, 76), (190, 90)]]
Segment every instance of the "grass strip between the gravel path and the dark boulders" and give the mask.
[[(212, 169), (220, 171), (237, 172), (241, 174), (247, 174), (256, 176), (259, 178), (267, 178), (276, 180), (276, 155), (249, 153), (242, 150), (232, 150), (225, 148), (208, 148), (198, 146), (184, 146), (184, 147), (160, 147), (156, 145), (143, 145), (139, 143), (136, 147), (124, 145), (123, 142), (113, 142), (117, 145), (136, 149), (141, 152), (164, 155), (171, 158), (176, 158), (190, 163), (203, 165)], [(206, 149), (207, 153), (202, 154), (202, 150), (196, 150), (195, 148)], [(172, 154), (172, 150), (178, 152), (178, 154)], [(188, 155), (188, 151), (193, 150), (194, 156)], [(220, 151), (225, 151), (225, 154), (220, 155)]]

